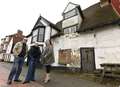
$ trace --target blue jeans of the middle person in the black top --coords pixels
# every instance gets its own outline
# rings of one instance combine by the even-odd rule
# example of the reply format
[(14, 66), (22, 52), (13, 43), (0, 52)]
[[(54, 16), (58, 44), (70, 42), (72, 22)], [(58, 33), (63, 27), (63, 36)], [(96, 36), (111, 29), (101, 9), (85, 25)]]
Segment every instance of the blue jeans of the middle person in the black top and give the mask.
[(37, 60), (31, 57), (29, 61), (28, 72), (25, 81), (35, 80), (36, 64), (37, 64)]

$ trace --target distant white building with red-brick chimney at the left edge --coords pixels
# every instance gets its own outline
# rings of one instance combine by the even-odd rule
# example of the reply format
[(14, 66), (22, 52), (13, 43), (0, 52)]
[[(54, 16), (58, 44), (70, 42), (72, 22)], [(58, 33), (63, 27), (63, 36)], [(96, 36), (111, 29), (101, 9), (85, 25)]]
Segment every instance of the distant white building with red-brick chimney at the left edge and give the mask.
[(8, 35), (5, 38), (1, 39), (1, 45), (3, 46), (2, 52), (1, 52), (1, 58), (4, 61), (12, 62), (14, 57), (12, 55), (12, 49), (14, 45), (22, 41), (25, 36), (23, 35), (23, 32), (21, 30), (18, 30), (17, 33)]

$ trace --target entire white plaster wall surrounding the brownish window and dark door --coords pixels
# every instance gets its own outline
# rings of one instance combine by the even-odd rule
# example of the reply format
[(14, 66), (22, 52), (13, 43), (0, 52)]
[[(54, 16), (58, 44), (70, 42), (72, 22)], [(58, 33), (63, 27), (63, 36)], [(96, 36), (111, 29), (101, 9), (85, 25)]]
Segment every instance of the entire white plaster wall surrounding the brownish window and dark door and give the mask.
[(120, 27), (109, 26), (97, 31), (70, 34), (54, 39), (55, 65), (58, 65), (60, 49), (79, 49), (80, 47), (95, 48), (96, 68), (101, 63), (120, 63)]

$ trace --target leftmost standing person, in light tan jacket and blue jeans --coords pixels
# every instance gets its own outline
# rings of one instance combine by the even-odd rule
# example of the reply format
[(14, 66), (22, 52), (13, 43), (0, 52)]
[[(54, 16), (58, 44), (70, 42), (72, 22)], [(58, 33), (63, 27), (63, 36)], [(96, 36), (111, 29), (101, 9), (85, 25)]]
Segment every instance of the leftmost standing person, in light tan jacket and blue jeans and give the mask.
[(11, 84), (13, 78), (14, 81), (21, 82), (19, 76), (21, 74), (24, 60), (28, 51), (28, 46), (26, 43), (27, 43), (27, 38), (24, 38), (23, 41), (16, 43), (13, 48), (14, 63), (10, 71), (7, 84)]

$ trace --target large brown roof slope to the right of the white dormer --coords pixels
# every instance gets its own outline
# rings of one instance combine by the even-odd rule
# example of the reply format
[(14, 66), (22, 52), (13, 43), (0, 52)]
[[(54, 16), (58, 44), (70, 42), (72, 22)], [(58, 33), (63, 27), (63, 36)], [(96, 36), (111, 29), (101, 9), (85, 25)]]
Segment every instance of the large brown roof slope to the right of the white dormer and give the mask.
[(83, 15), (84, 20), (78, 32), (116, 24), (120, 21), (120, 17), (115, 13), (111, 5), (101, 7), (100, 3), (83, 10)]

